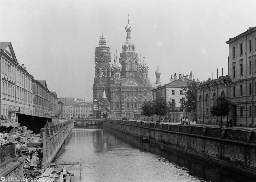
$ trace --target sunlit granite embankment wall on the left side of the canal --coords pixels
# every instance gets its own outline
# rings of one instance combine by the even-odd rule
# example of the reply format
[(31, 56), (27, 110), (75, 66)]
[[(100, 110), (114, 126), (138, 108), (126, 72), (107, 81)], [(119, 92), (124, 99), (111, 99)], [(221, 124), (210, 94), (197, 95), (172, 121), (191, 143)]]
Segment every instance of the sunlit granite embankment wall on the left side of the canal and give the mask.
[[(46, 153), (47, 163), (51, 163), (58, 154), (62, 145), (68, 138), (71, 130), (74, 128), (74, 121), (68, 120), (57, 124), (54, 128), (46, 128)], [(44, 130), (44, 129), (43, 129)], [(53, 130), (56, 134), (52, 135)]]

